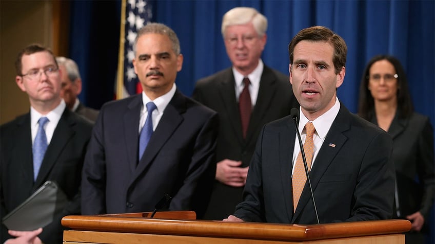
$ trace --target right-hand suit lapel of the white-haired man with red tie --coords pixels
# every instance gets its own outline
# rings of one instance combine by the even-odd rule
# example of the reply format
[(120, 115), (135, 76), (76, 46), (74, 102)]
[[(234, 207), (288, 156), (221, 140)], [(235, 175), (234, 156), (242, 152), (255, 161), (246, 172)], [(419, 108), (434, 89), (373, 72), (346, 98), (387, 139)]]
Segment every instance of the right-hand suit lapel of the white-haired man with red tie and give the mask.
[[(246, 139), (251, 140), (255, 128), (259, 126), (261, 118), (271, 106), (272, 99), (276, 91), (276, 77), (271, 70), (264, 66), (263, 74), (260, 79), (260, 87), (254, 109), (252, 110), (251, 119), (249, 120), (248, 132)], [(234, 89), (233, 89), (234, 90)]]

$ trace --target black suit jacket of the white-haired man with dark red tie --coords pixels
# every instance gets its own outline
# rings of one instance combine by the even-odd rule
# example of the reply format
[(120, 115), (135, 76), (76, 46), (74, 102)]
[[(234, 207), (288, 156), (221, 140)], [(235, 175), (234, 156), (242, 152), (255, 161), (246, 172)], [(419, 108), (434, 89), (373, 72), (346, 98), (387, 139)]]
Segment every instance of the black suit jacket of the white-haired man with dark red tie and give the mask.
[[(289, 115), (291, 108), (299, 107), (299, 104), (293, 96), (288, 76), (265, 65), (244, 140), (234, 85), (233, 72), (228, 68), (196, 82), (193, 98), (219, 114), (216, 161), (242, 161), (241, 167), (246, 167), (251, 162), (263, 125)], [(235, 188), (215, 181), (205, 218), (222, 220), (233, 214), (235, 205), (242, 201), (242, 191), (243, 187)]]

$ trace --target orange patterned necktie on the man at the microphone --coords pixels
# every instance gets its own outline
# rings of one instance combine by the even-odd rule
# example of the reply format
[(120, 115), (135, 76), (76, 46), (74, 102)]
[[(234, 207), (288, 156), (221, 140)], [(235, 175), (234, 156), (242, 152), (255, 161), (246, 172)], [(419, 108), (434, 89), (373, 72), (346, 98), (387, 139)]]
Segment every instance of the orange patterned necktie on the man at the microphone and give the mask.
[[(305, 157), (307, 159), (308, 171), (311, 169), (312, 157), (314, 154), (314, 143), (312, 136), (314, 135), (314, 125), (308, 122), (305, 125), (307, 131), (307, 137), (304, 143)], [(307, 176), (305, 174), (304, 161), (302, 161), (302, 153), (299, 152), (298, 158), (296, 158), (296, 165), (294, 166), (292, 187), (293, 187), (293, 211), (298, 206), (299, 198), (301, 197), (302, 190), (304, 189)]]

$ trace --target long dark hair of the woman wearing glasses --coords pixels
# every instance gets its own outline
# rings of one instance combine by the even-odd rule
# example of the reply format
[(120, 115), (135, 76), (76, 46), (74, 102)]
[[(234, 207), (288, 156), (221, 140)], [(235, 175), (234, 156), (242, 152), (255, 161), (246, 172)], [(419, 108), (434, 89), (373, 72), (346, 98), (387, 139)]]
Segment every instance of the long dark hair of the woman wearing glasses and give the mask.
[(368, 82), (370, 75), (370, 68), (373, 63), (387, 60), (390, 62), (396, 70), (397, 78), (397, 110), (400, 118), (409, 118), (414, 107), (412, 105), (411, 95), (409, 94), (408, 79), (406, 78), (405, 70), (399, 59), (391, 55), (377, 55), (368, 61), (366, 68), (364, 69), (363, 77), (360, 84), (360, 97), (358, 104), (358, 115), (366, 120), (371, 120), (374, 115), (374, 99), (368, 90)]

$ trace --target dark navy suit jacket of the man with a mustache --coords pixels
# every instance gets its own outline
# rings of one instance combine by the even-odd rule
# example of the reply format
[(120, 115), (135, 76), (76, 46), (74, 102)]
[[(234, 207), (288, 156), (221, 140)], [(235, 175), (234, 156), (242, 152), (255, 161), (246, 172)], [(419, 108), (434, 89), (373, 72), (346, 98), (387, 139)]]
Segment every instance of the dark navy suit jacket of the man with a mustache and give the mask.
[(176, 91), (138, 164), (142, 106), (139, 94), (100, 110), (83, 170), (82, 213), (153, 211), (169, 194), (169, 210), (202, 216), (216, 170), (217, 114)]

